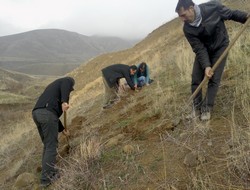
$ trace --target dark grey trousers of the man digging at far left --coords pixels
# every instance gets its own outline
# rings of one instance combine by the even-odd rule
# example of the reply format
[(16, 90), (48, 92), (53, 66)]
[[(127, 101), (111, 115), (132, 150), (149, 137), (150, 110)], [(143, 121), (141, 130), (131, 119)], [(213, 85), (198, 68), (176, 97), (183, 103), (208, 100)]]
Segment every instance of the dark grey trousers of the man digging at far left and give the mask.
[(39, 135), (44, 145), (42, 155), (41, 183), (49, 183), (56, 175), (55, 168), (58, 146), (58, 117), (47, 109), (37, 109), (32, 112)]

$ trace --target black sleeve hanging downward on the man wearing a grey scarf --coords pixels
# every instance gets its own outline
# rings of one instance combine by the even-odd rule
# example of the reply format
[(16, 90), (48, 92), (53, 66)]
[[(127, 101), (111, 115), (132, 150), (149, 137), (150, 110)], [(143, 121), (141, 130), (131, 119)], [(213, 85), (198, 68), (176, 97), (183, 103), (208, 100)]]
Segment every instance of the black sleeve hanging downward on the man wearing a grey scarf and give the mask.
[(209, 59), (207, 48), (200, 41), (200, 39), (192, 34), (185, 32), (184, 34), (191, 45), (193, 52), (196, 54), (197, 60), (199, 64), (201, 64), (202, 68), (211, 67), (211, 62)]

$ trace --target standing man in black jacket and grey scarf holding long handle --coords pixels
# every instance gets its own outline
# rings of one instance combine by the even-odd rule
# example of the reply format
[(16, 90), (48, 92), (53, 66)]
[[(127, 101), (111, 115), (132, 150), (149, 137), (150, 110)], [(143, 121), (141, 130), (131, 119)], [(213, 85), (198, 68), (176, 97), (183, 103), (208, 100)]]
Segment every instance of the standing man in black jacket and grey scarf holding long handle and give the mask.
[(230, 10), (216, 1), (196, 5), (192, 0), (179, 0), (175, 11), (184, 22), (184, 34), (196, 54), (192, 72), (192, 93), (205, 75), (209, 78), (206, 97), (203, 100), (200, 91), (193, 102), (194, 113), (201, 112), (201, 120), (209, 120), (226, 58), (214, 73), (211, 68), (229, 45), (224, 21), (245, 23), (249, 14)]

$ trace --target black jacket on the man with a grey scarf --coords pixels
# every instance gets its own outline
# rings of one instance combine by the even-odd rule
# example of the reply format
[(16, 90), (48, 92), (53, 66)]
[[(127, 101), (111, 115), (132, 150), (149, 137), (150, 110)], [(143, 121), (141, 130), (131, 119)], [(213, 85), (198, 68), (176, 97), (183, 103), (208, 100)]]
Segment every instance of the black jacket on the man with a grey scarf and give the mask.
[(211, 66), (209, 55), (226, 47), (229, 37), (224, 24), (225, 20), (245, 23), (247, 13), (230, 10), (218, 2), (212, 1), (199, 5), (202, 22), (199, 27), (184, 24), (183, 31), (202, 68)]

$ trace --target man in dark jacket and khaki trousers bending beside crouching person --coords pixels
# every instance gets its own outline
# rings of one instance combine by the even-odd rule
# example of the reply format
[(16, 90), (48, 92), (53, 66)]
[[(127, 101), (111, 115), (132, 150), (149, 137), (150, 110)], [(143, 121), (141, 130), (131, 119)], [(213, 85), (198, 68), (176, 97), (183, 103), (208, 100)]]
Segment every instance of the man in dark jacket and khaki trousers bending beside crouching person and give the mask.
[(102, 78), (105, 87), (103, 109), (110, 108), (115, 102), (119, 101), (118, 89), (119, 80), (125, 78), (129, 87), (135, 90), (135, 84), (131, 79), (136, 73), (135, 65), (114, 64), (102, 69)]

